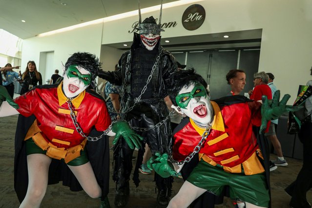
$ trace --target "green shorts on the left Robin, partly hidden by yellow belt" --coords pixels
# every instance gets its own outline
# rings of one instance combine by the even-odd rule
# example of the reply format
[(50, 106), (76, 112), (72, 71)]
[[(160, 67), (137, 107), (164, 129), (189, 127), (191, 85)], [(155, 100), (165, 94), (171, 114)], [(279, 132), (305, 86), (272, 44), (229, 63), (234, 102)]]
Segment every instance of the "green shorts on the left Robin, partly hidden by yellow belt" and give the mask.
[[(35, 144), (32, 138), (25, 141), (26, 142), (26, 154), (46, 154), (46, 150), (42, 150), (39, 146)], [(62, 159), (64, 160), (64, 159)], [(85, 151), (80, 151), (80, 156), (75, 158), (74, 160), (67, 163), (69, 166), (81, 166), (89, 162), (88, 156)]]

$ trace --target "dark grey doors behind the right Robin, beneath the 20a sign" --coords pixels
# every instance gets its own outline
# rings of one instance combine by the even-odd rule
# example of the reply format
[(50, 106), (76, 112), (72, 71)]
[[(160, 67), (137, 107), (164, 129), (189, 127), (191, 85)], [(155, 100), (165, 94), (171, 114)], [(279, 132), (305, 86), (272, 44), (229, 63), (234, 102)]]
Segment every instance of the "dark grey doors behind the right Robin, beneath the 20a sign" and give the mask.
[(173, 52), (178, 62), (193, 67), (208, 83), (211, 100), (229, 94), (226, 74), (231, 69), (246, 72), (246, 85), (242, 95), (253, 88), (253, 74), (258, 72), (260, 48), (214, 49), (202, 51)]

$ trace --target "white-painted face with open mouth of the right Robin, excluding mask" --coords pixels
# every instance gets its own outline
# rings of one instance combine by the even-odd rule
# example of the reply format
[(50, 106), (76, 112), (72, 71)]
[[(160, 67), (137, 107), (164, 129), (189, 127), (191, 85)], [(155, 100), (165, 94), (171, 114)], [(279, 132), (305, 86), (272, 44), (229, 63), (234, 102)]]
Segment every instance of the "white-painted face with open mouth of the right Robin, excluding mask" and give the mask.
[[(195, 86), (195, 83), (192, 83), (189, 86), (184, 86), (179, 94), (190, 93)], [(191, 118), (197, 125), (201, 127), (206, 127), (213, 119), (213, 108), (210, 103), (208, 96), (200, 96), (191, 98), (187, 104), (186, 109), (180, 108), (178, 106), (172, 105), (172, 107), (181, 114), (186, 114)]]

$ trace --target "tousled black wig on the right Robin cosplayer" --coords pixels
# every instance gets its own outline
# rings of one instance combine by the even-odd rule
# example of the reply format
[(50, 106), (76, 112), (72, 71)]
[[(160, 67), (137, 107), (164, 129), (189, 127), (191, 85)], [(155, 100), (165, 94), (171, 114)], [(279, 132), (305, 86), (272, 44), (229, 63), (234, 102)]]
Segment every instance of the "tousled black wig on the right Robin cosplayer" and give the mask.
[(180, 90), (184, 86), (189, 86), (192, 83), (201, 83), (207, 89), (207, 83), (202, 76), (195, 73), (194, 68), (187, 70), (179, 70), (171, 75), (171, 81), (167, 86), (167, 93), (169, 95), (172, 104), (177, 105), (175, 97), (179, 94)]

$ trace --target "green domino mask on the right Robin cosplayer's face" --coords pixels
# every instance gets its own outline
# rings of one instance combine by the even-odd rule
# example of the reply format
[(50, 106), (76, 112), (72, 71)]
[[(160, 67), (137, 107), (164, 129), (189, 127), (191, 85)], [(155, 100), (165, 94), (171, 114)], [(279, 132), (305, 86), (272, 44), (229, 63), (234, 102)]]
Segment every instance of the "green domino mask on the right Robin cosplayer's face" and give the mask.
[(207, 90), (201, 83), (196, 83), (191, 92), (182, 93), (175, 97), (175, 101), (178, 106), (184, 109), (187, 109), (187, 104), (192, 98), (195, 97), (206, 97)]

